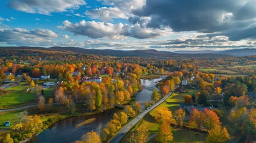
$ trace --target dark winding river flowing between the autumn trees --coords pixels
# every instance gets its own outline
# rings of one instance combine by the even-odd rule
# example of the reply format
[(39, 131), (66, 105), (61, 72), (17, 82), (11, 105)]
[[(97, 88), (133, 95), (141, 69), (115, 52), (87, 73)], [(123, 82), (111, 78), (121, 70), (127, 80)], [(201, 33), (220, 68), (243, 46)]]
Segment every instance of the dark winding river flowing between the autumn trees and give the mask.
[[(144, 108), (144, 101), (151, 101), (152, 91), (155, 88), (156, 83), (164, 79), (166, 76), (159, 77), (158, 79), (141, 79), (141, 85), (143, 90), (138, 92), (135, 100), (140, 102)], [(122, 110), (113, 108), (111, 110), (104, 111), (102, 113), (91, 114), (88, 116), (70, 117), (60, 122), (54, 123), (48, 129), (41, 132), (38, 136), (34, 136), (29, 142), (36, 143), (62, 143), (62, 142), (74, 142), (81, 138), (87, 132), (92, 129), (96, 130), (100, 123), (106, 125), (109, 122), (113, 114), (119, 113)], [(83, 125), (76, 128), (76, 125), (84, 122), (87, 119), (95, 118), (96, 120), (90, 124)]]

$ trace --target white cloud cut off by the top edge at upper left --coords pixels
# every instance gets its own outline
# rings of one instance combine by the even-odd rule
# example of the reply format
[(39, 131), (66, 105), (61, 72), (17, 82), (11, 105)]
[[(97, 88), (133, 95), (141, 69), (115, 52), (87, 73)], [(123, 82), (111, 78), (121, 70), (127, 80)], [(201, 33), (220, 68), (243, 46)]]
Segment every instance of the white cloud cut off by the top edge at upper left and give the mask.
[(45, 15), (67, 11), (68, 9), (78, 9), (85, 4), (84, 0), (10, 0), (9, 3), (10, 7), (15, 10)]

